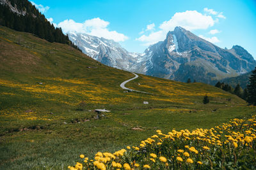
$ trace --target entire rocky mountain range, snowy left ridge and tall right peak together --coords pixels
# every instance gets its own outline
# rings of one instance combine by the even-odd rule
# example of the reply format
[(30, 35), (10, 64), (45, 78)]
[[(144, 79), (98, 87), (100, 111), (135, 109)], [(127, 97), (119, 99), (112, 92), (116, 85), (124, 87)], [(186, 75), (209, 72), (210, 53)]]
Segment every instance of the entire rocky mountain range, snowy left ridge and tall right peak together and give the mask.
[(176, 81), (214, 83), (252, 71), (256, 61), (243, 47), (220, 48), (182, 27), (169, 31), (164, 41), (144, 53), (127, 52), (113, 40), (68, 34), (84, 53), (108, 66)]

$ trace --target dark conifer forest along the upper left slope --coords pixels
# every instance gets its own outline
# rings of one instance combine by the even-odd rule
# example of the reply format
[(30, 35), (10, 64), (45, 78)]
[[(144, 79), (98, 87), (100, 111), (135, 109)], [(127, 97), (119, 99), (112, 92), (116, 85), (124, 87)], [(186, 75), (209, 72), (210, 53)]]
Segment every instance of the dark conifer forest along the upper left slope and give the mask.
[(80, 50), (67, 35), (63, 34), (61, 28), (55, 28), (28, 0), (10, 0), (10, 3), (19, 11), (25, 11), (26, 14), (14, 13), (8, 5), (1, 4), (0, 25), (16, 31), (30, 32), (51, 43), (63, 43)]

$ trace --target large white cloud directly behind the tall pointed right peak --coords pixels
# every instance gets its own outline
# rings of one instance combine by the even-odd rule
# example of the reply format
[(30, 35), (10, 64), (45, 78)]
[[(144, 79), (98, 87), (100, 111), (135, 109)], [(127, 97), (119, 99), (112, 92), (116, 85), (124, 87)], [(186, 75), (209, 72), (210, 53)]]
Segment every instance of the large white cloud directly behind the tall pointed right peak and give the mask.
[(158, 41), (163, 41), (167, 32), (172, 31), (176, 26), (193, 31), (196, 29), (207, 29), (212, 27), (214, 23), (215, 21), (210, 15), (202, 15), (198, 11), (178, 12), (170, 20), (164, 21), (159, 25), (159, 31), (151, 32), (148, 36), (144, 34), (140, 38), (136, 38), (136, 40), (144, 42), (144, 45), (152, 45)]

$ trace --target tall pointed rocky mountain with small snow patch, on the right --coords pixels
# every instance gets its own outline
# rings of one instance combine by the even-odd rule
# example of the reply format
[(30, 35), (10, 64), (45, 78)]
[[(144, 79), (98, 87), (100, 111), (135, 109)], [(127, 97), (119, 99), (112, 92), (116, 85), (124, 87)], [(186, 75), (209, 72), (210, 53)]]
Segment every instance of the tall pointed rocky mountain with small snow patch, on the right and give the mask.
[(164, 41), (149, 46), (145, 53), (145, 59), (133, 71), (177, 81), (191, 78), (211, 83), (247, 73), (256, 66), (252, 55), (243, 47), (225, 50), (182, 27), (175, 27)]

